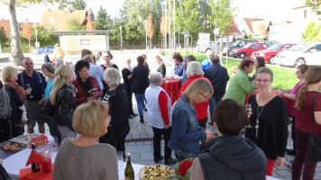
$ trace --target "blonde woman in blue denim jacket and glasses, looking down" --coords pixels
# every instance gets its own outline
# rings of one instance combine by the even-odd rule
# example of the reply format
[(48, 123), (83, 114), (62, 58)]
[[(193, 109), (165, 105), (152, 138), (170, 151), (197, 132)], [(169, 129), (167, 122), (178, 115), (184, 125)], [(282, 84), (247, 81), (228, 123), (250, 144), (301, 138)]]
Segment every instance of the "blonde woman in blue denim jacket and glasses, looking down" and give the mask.
[(188, 85), (173, 108), (169, 147), (179, 161), (196, 157), (199, 153), (199, 142), (214, 138), (210, 130), (198, 125), (197, 112), (193, 105), (205, 102), (212, 94), (211, 83), (199, 78)]

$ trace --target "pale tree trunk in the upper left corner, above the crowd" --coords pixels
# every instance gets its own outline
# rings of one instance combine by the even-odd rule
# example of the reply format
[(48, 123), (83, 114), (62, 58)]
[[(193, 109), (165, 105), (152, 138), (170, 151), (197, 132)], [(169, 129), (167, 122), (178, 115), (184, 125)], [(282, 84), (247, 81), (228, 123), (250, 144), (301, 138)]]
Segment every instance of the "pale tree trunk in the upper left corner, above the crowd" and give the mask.
[(10, 27), (11, 27), (11, 55), (14, 57), (14, 64), (20, 66), (23, 62), (23, 50), (21, 49), (20, 31), (15, 13), (15, 0), (9, 1)]

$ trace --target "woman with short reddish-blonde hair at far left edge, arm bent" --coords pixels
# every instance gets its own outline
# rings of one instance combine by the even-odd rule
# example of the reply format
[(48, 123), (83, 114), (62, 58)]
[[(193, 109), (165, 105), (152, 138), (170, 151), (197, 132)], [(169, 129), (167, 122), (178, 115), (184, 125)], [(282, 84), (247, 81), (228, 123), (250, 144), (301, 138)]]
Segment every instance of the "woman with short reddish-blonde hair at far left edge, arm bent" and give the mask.
[(25, 96), (32, 92), (32, 89), (24, 90), (22, 86), (18, 85), (15, 81), (18, 79), (19, 69), (12, 66), (7, 66), (2, 70), (2, 78), (4, 80), (4, 86), (14, 87), (20, 98), (23, 100), (25, 106)]

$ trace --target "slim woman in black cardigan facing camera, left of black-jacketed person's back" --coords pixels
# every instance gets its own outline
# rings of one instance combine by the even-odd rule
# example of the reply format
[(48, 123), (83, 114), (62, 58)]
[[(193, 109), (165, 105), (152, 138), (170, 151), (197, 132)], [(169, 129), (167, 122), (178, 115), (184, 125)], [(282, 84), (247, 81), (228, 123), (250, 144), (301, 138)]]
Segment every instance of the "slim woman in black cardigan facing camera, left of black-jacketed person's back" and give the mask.
[(133, 92), (132, 92), (132, 84), (133, 84), (133, 67), (131, 67), (131, 57), (126, 57), (124, 62), (125, 67), (122, 70), (122, 75), (124, 79), (124, 90), (126, 92), (126, 97), (129, 103), (129, 115), (130, 117), (136, 116), (137, 114), (133, 112)]

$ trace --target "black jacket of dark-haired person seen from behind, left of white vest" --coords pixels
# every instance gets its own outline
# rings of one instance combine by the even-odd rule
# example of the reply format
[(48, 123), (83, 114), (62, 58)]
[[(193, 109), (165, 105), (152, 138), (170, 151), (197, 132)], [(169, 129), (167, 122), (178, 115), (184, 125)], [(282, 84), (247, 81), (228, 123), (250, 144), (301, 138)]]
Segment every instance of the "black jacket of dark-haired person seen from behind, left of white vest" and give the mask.
[(148, 80), (149, 69), (143, 64), (138, 64), (133, 68), (133, 85), (132, 90), (134, 94), (144, 94), (145, 90), (149, 86)]

